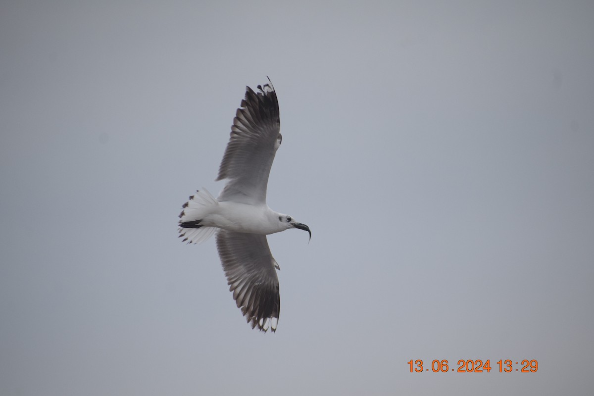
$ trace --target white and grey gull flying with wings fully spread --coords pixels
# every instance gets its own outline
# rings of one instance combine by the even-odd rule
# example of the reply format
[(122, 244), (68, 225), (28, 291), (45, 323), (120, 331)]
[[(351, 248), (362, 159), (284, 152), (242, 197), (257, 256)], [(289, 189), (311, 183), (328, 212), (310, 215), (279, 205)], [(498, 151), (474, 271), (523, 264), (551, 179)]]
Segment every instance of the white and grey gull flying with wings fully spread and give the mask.
[(213, 233), (233, 299), (252, 328), (276, 330), (279, 320), (279, 265), (266, 235), (305, 224), (266, 204), (266, 187), (274, 154), (280, 147), (279, 102), (270, 79), (258, 92), (245, 87), (231, 137), (216, 180), (227, 183), (218, 198), (196, 191), (179, 215), (179, 236), (200, 243)]

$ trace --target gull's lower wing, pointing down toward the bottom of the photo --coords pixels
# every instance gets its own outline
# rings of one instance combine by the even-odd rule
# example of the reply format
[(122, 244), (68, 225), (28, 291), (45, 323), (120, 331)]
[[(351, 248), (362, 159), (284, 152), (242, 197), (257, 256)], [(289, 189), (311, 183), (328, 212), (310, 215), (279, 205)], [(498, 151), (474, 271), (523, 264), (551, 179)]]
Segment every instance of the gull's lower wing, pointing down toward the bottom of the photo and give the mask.
[(252, 328), (276, 330), (280, 312), (276, 261), (266, 235), (219, 230), (217, 249), (233, 299)]

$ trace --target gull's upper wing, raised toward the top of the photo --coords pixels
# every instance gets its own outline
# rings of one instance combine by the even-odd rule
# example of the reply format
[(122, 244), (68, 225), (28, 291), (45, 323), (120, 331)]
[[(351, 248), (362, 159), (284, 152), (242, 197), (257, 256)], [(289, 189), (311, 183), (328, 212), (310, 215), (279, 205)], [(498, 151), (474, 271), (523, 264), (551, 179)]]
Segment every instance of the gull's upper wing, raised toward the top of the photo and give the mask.
[(217, 177), (229, 181), (218, 199), (263, 204), (270, 167), (282, 140), (279, 102), (271, 83), (264, 88), (258, 85), (258, 93), (245, 88)]

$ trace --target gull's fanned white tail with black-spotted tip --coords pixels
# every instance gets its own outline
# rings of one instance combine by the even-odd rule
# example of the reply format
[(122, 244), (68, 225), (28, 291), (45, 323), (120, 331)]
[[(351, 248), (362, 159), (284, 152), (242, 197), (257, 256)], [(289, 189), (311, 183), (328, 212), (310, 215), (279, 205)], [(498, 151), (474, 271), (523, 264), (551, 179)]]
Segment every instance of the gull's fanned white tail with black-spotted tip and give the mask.
[(179, 237), (184, 238), (183, 242), (202, 243), (214, 234), (216, 227), (204, 227), (200, 224), (204, 216), (211, 212), (213, 205), (219, 205), (219, 201), (204, 187), (182, 205), (184, 210), (179, 214), (178, 231)]

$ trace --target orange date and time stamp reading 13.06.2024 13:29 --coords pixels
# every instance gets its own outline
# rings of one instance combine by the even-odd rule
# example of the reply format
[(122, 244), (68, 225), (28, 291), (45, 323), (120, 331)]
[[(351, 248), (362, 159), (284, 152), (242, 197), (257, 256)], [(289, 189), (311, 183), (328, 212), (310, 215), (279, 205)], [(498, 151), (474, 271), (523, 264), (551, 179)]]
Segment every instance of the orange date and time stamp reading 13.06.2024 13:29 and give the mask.
[[(429, 368), (423, 366), (423, 360), (410, 359), (407, 364), (411, 373), (422, 373), (422, 372), (434, 372), (434, 373), (447, 373), (447, 372), (458, 372), (458, 373), (489, 373), (491, 372), (491, 359), (483, 362), (480, 359), (477, 360), (465, 360), (460, 359), (457, 363), (457, 369), (450, 369), (450, 365), (447, 359), (437, 360), (434, 359), (431, 362)], [(535, 373), (538, 370), (538, 360), (511, 360), (511, 359), (500, 359), (493, 366), (494, 372), (500, 373)]]

